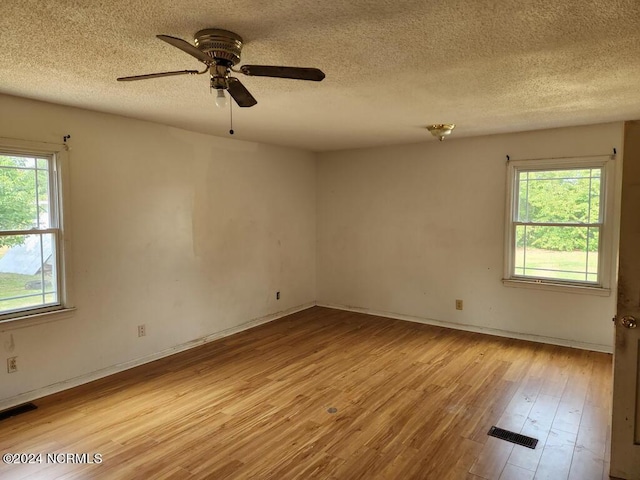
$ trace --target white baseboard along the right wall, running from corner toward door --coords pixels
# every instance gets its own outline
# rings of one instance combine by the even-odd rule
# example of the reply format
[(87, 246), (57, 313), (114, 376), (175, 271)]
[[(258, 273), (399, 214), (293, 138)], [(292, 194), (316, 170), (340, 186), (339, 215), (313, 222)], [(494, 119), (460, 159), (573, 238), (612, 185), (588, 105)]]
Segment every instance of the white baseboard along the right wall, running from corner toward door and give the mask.
[(590, 350), (593, 352), (613, 353), (613, 347), (610, 345), (578, 342), (574, 340), (566, 340), (564, 338), (545, 337), (542, 335), (532, 335), (528, 333), (511, 332), (508, 330), (500, 330), (497, 328), (477, 327), (475, 325), (465, 325), (460, 323), (444, 322), (441, 320), (433, 320), (430, 318), (415, 317), (413, 315), (403, 315), (400, 313), (371, 310), (368, 308), (338, 305), (333, 303), (317, 303), (316, 305), (318, 307), (334, 308), (336, 310), (345, 310), (348, 312), (366, 313), (368, 315), (376, 315), (378, 317), (393, 318), (395, 320), (404, 320), (407, 322), (424, 323), (426, 325), (435, 325), (438, 327), (452, 328), (455, 330), (463, 330), (465, 332), (482, 333), (485, 335), (494, 335), (497, 337), (517, 338), (518, 340), (528, 340), (530, 342), (547, 343), (550, 345), (559, 345), (562, 347), (578, 348), (580, 350)]

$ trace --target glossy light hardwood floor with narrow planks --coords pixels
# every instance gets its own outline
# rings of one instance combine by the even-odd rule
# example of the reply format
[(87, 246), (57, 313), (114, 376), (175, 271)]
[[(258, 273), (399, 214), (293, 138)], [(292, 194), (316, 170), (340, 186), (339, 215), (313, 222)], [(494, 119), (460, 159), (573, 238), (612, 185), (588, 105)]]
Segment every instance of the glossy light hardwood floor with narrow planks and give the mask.
[(610, 397), (607, 354), (315, 307), (37, 400), (0, 453), (102, 463), (0, 478), (602, 480)]

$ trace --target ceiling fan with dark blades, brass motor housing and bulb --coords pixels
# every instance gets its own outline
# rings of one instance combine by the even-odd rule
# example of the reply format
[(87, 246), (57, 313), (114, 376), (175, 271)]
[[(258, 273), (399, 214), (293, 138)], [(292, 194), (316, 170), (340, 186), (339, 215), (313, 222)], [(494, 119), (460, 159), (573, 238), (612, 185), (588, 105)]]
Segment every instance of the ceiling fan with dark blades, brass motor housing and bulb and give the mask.
[(314, 82), (319, 82), (324, 78), (324, 73), (317, 68), (242, 65), (239, 70), (236, 70), (233, 67), (240, 61), (243, 42), (240, 35), (228, 30), (219, 28), (200, 30), (194, 37), (195, 46), (181, 38), (170, 37), (169, 35), (156, 35), (156, 37), (195, 57), (204, 63), (206, 68), (202, 71), (177, 70), (120, 77), (118, 78), (119, 82), (170, 77), (174, 75), (202, 75), (203, 73), (209, 72), (211, 74), (211, 89), (217, 91), (216, 105), (222, 107), (226, 104), (224, 91), (227, 90), (238, 106), (252, 107), (258, 103), (257, 100), (253, 98), (253, 95), (249, 93), (249, 90), (245, 88), (240, 80), (230, 76), (231, 72), (256, 77), (293, 78)]

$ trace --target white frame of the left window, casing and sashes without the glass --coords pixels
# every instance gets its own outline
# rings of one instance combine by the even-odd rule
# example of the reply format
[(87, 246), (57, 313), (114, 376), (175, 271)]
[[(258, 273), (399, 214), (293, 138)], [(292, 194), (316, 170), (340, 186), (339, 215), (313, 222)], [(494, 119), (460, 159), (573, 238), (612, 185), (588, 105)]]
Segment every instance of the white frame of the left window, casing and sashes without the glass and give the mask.
[[(65, 144), (0, 138), (0, 152), (9, 155), (47, 158), (49, 162), (52, 225), (49, 225), (47, 229), (34, 230), (33, 234), (52, 233), (54, 235), (58, 299), (54, 305), (34, 306), (0, 313), (0, 325), (6, 325), (9, 322), (22, 319), (31, 319), (39, 323), (43, 318), (50, 319), (52, 315), (59, 316), (60, 313), (68, 313), (75, 310), (75, 307), (72, 306), (72, 281), (71, 269), (69, 268), (70, 221), (67, 208), (68, 202), (64, 194), (68, 185), (68, 148)], [(18, 232), (28, 234), (29, 230), (14, 231), (14, 233)]]

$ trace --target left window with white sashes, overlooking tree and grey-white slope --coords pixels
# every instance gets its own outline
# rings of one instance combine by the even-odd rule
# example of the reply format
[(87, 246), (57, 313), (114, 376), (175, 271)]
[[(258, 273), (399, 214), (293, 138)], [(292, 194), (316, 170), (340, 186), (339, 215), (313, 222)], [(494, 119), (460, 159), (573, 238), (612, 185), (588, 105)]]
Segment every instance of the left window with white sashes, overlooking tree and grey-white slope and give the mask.
[(65, 306), (61, 156), (0, 143), (0, 321)]

